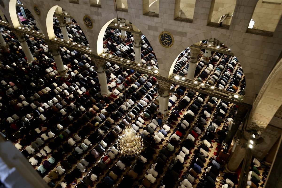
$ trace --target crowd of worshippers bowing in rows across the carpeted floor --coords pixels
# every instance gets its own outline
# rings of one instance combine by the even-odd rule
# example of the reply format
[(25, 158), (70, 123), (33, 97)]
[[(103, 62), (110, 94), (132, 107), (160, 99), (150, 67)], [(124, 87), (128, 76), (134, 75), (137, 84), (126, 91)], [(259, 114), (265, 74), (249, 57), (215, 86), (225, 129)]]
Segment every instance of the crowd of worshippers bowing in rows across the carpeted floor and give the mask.
[[(31, 23), (24, 21), (24, 26), (35, 27)], [(54, 18), (55, 34), (62, 38), (59, 28)], [(68, 32), (72, 40), (88, 45), (75, 21)], [(220, 148), (235, 105), (172, 85), (170, 115), (163, 123), (157, 113), (155, 77), (107, 62), (105, 72), (112, 94), (103, 97), (94, 62), (87, 54), (60, 47), (69, 75), (61, 78), (44, 40), (27, 36), (35, 59), (27, 63), (17, 37), (4, 27), (1, 34), (10, 52), (0, 57), (5, 70), (0, 75), (0, 131), (51, 187), (212, 188), (218, 182), (227, 188), (237, 183), (232, 174), (220, 177), (224, 163), (210, 152), (213, 147)], [(118, 30), (107, 28), (104, 51), (134, 61), (133, 37), (127, 32), (126, 41), (120, 44), (118, 35)], [(142, 39), (142, 63), (157, 68), (153, 49), (145, 36)], [(188, 52), (189, 48), (180, 54), (175, 73), (187, 74)], [(243, 92), (244, 77), (236, 57), (215, 53), (207, 65), (202, 63), (197, 78), (207, 84), (211, 80), (221, 89)], [(133, 158), (117, 150), (116, 140), (127, 125), (144, 141), (143, 151)], [(215, 142), (218, 144), (213, 146)], [(254, 174), (248, 179), (250, 185), (256, 185), (259, 180), (255, 166), (252, 168)]]

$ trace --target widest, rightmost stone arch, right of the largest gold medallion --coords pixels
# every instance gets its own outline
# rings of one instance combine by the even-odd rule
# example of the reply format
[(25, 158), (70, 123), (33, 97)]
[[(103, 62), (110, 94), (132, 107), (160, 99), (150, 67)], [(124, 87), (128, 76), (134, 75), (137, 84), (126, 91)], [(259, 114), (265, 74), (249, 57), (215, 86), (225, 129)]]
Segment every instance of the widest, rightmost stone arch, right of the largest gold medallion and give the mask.
[(168, 75), (168, 77), (172, 75), (173, 67), (178, 59), (179, 54), (182, 52), (182, 50), (184, 50), (185, 48), (199, 41), (210, 39), (210, 38), (216, 38), (219, 41), (221, 41), (222, 43), (224, 43), (224, 45), (230, 48), (231, 52), (233, 52), (233, 54), (238, 58), (244, 70), (244, 74), (246, 78), (246, 88), (245, 88), (246, 94), (245, 94), (244, 99), (248, 98), (248, 101), (244, 100), (244, 102), (248, 104), (252, 104), (254, 100), (254, 95), (255, 95), (254, 93), (255, 87), (254, 87), (254, 75), (253, 75), (253, 72), (251, 71), (250, 63), (248, 62), (248, 60), (246, 59), (246, 56), (244, 55), (243, 51), (238, 47), (238, 45), (234, 41), (232, 41), (228, 36), (226, 36), (225, 34), (219, 31), (207, 31), (204, 33), (200, 33), (180, 43), (178, 45), (178, 48), (173, 50), (173, 52), (170, 54), (168, 61), (166, 61), (166, 62), (173, 62), (173, 63), (172, 64), (164, 63), (165, 64), (164, 67), (170, 67), (169, 72), (166, 71), (166, 74)]

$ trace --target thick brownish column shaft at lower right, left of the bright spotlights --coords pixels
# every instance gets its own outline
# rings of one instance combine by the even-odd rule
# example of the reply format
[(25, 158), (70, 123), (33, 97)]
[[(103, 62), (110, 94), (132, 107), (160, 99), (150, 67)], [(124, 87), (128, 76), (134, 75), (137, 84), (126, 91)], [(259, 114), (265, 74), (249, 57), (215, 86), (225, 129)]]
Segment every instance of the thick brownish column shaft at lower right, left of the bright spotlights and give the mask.
[(235, 173), (239, 165), (244, 159), (246, 153), (246, 149), (241, 147), (241, 145), (237, 145), (229, 162), (225, 165), (225, 170), (227, 172)]

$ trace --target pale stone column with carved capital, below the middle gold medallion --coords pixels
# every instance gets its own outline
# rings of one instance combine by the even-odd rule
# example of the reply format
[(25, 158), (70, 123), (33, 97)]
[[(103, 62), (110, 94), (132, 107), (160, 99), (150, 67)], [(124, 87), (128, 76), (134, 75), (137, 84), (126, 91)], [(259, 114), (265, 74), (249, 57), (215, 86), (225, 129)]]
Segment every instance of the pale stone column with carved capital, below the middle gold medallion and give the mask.
[(96, 57), (91, 57), (97, 67), (97, 75), (101, 89), (102, 96), (109, 96), (111, 93), (108, 88), (107, 77), (106, 77), (106, 69), (105, 69), (105, 61), (103, 59), (99, 59)]

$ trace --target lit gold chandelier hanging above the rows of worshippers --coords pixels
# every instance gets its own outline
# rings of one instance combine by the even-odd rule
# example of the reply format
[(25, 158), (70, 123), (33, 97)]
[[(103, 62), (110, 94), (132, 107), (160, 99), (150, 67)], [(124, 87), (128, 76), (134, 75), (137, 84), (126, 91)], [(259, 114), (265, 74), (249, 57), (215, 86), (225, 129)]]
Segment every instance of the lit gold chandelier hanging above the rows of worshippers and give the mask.
[(117, 140), (117, 149), (124, 156), (136, 156), (143, 149), (143, 139), (135, 134), (131, 126), (128, 126)]

